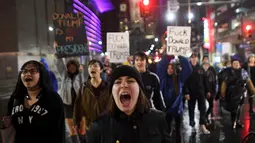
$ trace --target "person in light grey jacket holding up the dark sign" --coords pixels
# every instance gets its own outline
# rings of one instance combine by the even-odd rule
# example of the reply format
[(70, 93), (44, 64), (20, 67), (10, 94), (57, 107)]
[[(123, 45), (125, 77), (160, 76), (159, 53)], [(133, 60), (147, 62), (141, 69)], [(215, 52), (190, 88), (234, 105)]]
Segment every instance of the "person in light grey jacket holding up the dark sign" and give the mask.
[(84, 77), (79, 71), (80, 65), (77, 60), (69, 60), (66, 64), (66, 68), (61, 66), (61, 62), (59, 62), (59, 60), (57, 65), (62, 81), (59, 93), (64, 102), (66, 124), (68, 127), (70, 139), (73, 143), (76, 143), (79, 139), (77, 137), (77, 133), (73, 130), (73, 112), (75, 100), (80, 93), (82, 84), (84, 82)]

